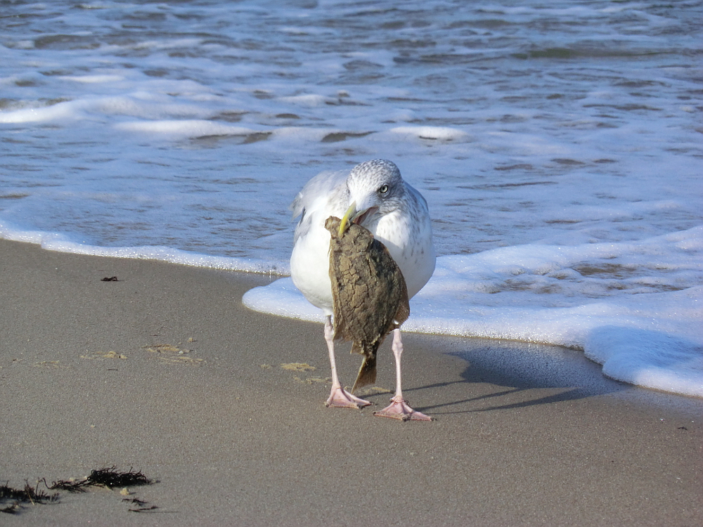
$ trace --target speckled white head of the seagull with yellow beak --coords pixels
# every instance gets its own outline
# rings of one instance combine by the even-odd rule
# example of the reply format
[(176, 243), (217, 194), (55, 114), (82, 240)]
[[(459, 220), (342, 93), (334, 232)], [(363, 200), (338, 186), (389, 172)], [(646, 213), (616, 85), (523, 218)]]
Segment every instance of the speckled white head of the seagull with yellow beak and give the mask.
[(368, 226), (380, 216), (401, 207), (405, 182), (395, 163), (370, 160), (357, 164), (347, 176), (349, 208), (340, 223), (340, 235), (347, 223)]

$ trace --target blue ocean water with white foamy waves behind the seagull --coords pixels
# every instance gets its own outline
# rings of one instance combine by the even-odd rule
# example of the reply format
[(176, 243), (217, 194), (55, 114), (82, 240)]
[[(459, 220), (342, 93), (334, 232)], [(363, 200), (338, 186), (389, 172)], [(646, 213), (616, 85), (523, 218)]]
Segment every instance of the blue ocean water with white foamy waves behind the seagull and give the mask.
[[(703, 1), (4, 1), (0, 236), (285, 277), (288, 205), (394, 161), (404, 327), (703, 396)], [(280, 278), (245, 304), (321, 320)]]

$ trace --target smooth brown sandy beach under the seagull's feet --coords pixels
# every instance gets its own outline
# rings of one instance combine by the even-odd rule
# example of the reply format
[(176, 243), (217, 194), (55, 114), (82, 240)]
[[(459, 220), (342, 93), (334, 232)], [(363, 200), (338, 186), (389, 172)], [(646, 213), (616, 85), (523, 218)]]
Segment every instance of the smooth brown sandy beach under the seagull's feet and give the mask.
[(129, 488), (150, 512), (97, 488), (4, 525), (703, 523), (703, 401), (612, 382), (578, 351), (406, 334), (405, 395), (435, 420), (404, 423), (371, 413), (394, 387), (388, 343), (375, 405), (325, 408), (321, 324), (241, 304), (268, 276), (0, 254), (0, 482), (157, 480)]

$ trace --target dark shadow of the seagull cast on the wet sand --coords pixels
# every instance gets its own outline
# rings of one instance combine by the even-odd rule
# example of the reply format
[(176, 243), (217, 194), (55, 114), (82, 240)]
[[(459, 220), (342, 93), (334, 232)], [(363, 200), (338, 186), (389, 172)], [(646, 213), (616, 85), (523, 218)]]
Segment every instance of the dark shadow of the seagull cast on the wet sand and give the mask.
[(431, 415), (528, 408), (635, 389), (604, 377), (583, 352), (561, 346), (446, 337), (442, 348), (465, 361), (460, 379), (404, 389), (417, 392), (416, 403), (433, 393), (437, 402), (417, 408)]

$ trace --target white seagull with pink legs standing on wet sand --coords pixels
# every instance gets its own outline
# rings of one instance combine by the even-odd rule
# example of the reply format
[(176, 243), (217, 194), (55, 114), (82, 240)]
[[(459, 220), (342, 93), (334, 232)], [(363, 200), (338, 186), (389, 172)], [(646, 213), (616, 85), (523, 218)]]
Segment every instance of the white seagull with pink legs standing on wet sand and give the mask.
[[(337, 376), (329, 274), (330, 232), (325, 229), (325, 221), (337, 216), (368, 229), (388, 249), (405, 278), (408, 298), (412, 298), (432, 277), (437, 259), (427, 202), (403, 180), (393, 162), (370, 160), (357, 164), (348, 173), (318, 174), (297, 194), (290, 208), (293, 219), (300, 216), (290, 256), (291, 278), (304, 297), (325, 315), (324, 337), (332, 369), (332, 389), (325, 405), (342, 408), (370, 405), (369, 401), (344, 390)], [(396, 365), (396, 391), (391, 404), (375, 415), (429, 420), (430, 417), (413, 410), (403, 398), (403, 342), (399, 327), (393, 330), (391, 349)]]

